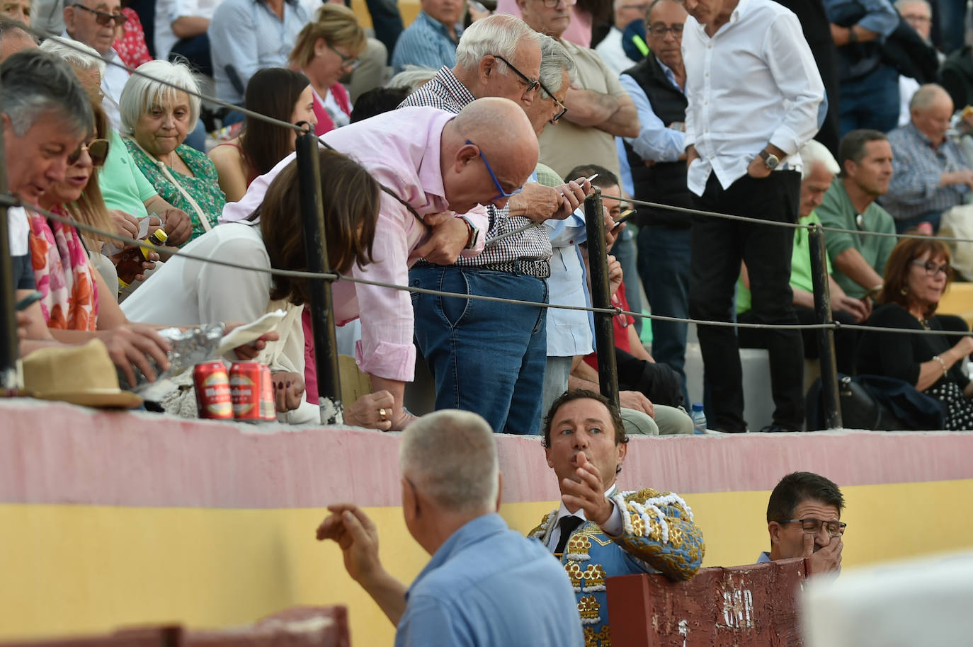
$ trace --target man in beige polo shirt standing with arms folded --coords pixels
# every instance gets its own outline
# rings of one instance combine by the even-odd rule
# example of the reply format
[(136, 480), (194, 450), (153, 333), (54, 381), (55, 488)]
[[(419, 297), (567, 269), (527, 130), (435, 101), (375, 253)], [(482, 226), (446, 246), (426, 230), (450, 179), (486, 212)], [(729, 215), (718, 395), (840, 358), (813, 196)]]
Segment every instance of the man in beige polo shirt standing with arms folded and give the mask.
[(604, 166), (620, 175), (615, 135), (638, 135), (638, 113), (629, 93), (595, 50), (560, 38), (571, 20), (575, 0), (518, 0), (530, 28), (558, 40), (574, 58), (578, 83), (567, 90), (564, 115), (557, 131), (541, 135), (541, 162), (563, 177), (581, 164)]

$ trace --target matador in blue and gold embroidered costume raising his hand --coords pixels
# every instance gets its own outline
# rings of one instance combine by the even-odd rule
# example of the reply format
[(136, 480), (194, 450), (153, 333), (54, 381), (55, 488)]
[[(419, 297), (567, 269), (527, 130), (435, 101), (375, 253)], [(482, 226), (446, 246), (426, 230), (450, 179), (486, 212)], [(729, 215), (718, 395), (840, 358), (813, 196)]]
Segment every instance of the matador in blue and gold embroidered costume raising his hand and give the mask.
[(615, 485), (628, 442), (618, 409), (594, 391), (568, 391), (544, 420), (545, 452), (558, 475), (561, 504), (529, 536), (564, 566), (586, 647), (611, 645), (605, 578), (664, 573), (688, 580), (703, 562), (703, 532), (680, 496)]

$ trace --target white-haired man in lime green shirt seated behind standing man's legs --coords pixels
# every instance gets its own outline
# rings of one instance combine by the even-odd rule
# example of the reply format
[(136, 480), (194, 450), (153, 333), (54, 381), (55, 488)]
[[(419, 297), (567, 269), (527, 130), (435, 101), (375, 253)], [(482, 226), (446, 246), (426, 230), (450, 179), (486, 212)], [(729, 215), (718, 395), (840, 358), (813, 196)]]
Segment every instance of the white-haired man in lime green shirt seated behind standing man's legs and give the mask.
[[(824, 199), (824, 194), (831, 187), (841, 168), (835, 156), (825, 148), (824, 144), (811, 139), (801, 149), (801, 163), (804, 165), (801, 179), (801, 205), (798, 212), (798, 223), (801, 225), (815, 225), (821, 219), (814, 213), (814, 209)], [(791, 256), (791, 290), (794, 292), (794, 311), (802, 324), (817, 323), (814, 313), (814, 282), (811, 274), (811, 241), (806, 229), (794, 230), (794, 253)], [(828, 280), (831, 286), (832, 318), (843, 324), (861, 323), (872, 313), (871, 301), (868, 299), (854, 299), (848, 297), (842, 287), (831, 276), (831, 262), (825, 256), (828, 268)], [(737, 320), (740, 323), (756, 323), (750, 312), (750, 278), (746, 266), (742, 266), (737, 283)], [(763, 332), (754, 328), (740, 328), (737, 331), (739, 345), (743, 348), (763, 348)], [(804, 356), (807, 359), (817, 359), (817, 331), (802, 331), (804, 336)], [(856, 333), (851, 330), (835, 332), (835, 356), (838, 362), (838, 372), (845, 375), (854, 374), (854, 348)]]

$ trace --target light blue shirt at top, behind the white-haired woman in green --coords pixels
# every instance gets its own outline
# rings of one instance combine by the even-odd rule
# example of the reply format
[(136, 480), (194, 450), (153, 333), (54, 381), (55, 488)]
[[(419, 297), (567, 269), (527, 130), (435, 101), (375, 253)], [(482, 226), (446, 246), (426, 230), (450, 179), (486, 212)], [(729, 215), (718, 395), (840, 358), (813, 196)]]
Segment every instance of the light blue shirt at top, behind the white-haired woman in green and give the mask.
[(263, 0), (225, 0), (206, 32), (217, 98), (243, 104), (243, 92), (231, 83), (227, 65), (233, 65), (244, 90), (257, 70), (287, 67), (287, 57), (307, 20), (306, 9), (296, 0), (284, 2), (283, 20)]

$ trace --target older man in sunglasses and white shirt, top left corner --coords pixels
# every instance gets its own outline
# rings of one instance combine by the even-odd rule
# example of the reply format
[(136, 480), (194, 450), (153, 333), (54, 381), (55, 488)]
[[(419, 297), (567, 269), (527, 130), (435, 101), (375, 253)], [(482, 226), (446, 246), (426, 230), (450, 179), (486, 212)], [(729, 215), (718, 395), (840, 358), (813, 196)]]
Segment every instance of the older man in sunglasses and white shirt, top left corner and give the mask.
[(125, 24), (126, 19), (119, 0), (77, 0), (74, 3), (68, 0), (64, 6), (64, 36), (94, 48), (108, 63), (101, 76), (101, 91), (104, 93), (101, 107), (114, 130), (122, 125), (119, 100), (128, 81), (128, 72), (124, 67), (113, 64), (122, 60), (112, 45), (118, 27)]

